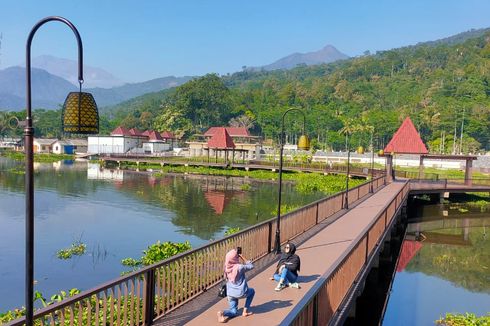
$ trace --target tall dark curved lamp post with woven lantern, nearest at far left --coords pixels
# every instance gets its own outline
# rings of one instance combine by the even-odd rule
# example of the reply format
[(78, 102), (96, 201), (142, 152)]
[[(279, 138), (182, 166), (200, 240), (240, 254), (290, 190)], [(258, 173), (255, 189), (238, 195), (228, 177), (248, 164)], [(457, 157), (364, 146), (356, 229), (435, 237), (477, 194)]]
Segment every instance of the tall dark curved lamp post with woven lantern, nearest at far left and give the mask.
[(62, 22), (71, 28), (78, 43), (78, 82), (79, 92), (68, 94), (63, 105), (62, 126), (66, 133), (94, 134), (99, 131), (99, 116), (93, 96), (82, 93), (83, 83), (83, 47), (76, 27), (63, 17), (51, 16), (40, 20), (30, 31), (26, 44), (26, 126), (24, 128), (24, 146), (26, 156), (26, 275), (25, 303), (26, 325), (32, 326), (34, 319), (34, 153), (31, 110), (31, 43), (36, 31), (50, 21)]

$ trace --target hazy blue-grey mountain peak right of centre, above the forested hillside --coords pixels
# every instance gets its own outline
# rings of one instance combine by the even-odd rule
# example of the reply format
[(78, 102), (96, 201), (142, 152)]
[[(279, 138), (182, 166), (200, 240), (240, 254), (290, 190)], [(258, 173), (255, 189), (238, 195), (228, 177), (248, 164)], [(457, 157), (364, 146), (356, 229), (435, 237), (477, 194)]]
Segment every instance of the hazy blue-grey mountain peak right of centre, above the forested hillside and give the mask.
[(293, 53), (285, 56), (269, 65), (262, 67), (252, 67), (250, 70), (277, 70), (291, 69), (299, 65), (317, 65), (322, 63), (330, 63), (337, 60), (348, 59), (349, 56), (337, 50), (333, 45), (326, 45), (323, 49), (306, 53)]

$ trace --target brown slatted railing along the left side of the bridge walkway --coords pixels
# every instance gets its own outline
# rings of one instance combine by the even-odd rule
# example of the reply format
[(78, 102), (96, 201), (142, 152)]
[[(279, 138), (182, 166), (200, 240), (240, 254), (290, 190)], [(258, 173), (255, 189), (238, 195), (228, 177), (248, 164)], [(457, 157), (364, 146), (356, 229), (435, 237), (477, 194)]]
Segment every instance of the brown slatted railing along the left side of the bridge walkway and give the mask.
[[(385, 177), (349, 190), (349, 202), (378, 189)], [(281, 216), (283, 243), (343, 209), (345, 192), (326, 197)], [(241, 246), (257, 260), (273, 250), (276, 219), (235, 233), (144, 267), (126, 276), (37, 310), (36, 325), (151, 325), (223, 278), (223, 261), (231, 248)], [(10, 322), (23, 325), (25, 318)]]

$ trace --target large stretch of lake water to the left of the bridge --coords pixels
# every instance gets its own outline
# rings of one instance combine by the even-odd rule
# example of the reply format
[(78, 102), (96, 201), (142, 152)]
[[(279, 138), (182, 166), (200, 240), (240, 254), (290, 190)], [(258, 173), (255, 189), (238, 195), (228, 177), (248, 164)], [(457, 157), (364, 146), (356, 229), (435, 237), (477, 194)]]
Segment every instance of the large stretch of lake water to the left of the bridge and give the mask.
[[(0, 312), (24, 305), (25, 195), (23, 165), (0, 157)], [(198, 247), (229, 227), (273, 217), (277, 183), (101, 170), (88, 162), (35, 164), (35, 290), (46, 298), (88, 289), (128, 268), (156, 241)], [(242, 184), (251, 185), (248, 191)], [(283, 185), (283, 203), (302, 206), (324, 197)], [(81, 240), (86, 254), (60, 260), (56, 252)]]

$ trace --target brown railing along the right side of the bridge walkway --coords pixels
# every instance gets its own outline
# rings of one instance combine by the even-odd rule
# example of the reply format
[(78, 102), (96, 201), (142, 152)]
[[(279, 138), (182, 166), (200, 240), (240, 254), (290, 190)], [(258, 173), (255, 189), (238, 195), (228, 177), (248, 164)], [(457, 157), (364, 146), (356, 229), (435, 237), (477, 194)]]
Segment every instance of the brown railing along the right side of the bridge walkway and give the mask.
[(403, 205), (408, 192), (408, 181), (286, 316), (281, 325), (327, 325), (345, 300), (349, 290), (367, 266), (383, 233)]

